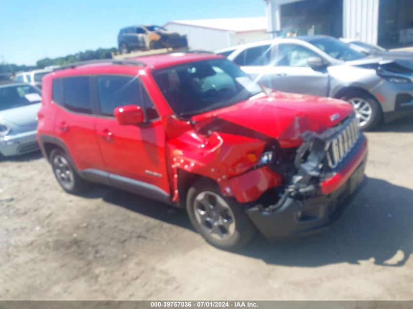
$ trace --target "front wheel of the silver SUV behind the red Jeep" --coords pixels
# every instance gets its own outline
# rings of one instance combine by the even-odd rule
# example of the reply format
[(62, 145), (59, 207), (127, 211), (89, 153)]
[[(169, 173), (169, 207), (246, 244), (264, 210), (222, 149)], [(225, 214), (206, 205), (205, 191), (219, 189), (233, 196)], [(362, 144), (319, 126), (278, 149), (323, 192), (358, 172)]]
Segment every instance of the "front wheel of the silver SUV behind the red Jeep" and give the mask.
[(360, 129), (364, 131), (371, 130), (381, 120), (381, 108), (379, 103), (372, 97), (359, 94), (344, 98), (354, 107)]

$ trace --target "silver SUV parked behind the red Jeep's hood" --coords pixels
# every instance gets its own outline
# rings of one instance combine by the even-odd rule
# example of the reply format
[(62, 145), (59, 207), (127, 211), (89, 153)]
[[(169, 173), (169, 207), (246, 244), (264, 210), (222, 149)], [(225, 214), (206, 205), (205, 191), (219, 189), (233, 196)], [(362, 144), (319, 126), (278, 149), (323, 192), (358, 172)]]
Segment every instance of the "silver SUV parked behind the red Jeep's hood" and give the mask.
[(413, 62), (366, 57), (331, 37), (240, 45), (227, 58), (275, 90), (348, 101), (364, 130), (413, 112)]

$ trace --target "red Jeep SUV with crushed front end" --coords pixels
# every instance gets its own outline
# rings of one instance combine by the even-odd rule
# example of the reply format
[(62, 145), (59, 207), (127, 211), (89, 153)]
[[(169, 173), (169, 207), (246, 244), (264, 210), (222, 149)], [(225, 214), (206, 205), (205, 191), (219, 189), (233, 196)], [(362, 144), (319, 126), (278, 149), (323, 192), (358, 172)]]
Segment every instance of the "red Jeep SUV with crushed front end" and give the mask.
[(111, 185), (186, 208), (235, 249), (334, 223), (364, 179), (350, 104), (271, 92), (221, 56), (81, 62), (43, 78), (38, 140), (59, 184)]

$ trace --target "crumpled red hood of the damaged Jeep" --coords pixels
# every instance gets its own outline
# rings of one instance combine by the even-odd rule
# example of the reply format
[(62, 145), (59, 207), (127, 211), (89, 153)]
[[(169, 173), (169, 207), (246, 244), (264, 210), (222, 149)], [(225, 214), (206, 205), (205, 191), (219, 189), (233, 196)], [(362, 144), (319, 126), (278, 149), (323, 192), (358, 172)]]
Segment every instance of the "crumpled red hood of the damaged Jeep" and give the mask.
[(352, 113), (353, 107), (344, 101), (274, 92), (196, 115), (193, 120), (202, 127), (220, 119), (275, 138), (283, 147), (296, 147), (302, 143), (300, 136), (305, 131), (321, 133)]

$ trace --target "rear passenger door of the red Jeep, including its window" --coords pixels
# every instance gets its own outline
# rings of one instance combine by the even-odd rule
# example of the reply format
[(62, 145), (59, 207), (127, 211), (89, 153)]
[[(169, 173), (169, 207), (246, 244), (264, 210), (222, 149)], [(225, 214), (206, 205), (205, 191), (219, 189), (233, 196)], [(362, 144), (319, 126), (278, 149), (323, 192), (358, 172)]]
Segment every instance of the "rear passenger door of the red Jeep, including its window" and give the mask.
[(60, 106), (55, 117), (55, 134), (79, 169), (103, 167), (96, 141), (92, 91), (89, 76), (53, 80), (52, 100)]

